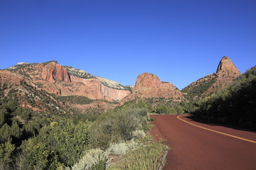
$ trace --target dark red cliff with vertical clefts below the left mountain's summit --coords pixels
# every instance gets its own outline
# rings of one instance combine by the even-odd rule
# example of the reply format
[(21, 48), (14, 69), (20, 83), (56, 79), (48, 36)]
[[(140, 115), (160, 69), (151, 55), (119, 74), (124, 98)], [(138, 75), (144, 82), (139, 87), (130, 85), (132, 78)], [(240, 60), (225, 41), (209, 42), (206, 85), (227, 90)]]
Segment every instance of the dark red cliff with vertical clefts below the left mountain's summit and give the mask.
[(42, 68), (41, 77), (51, 82), (55, 80), (71, 82), (68, 70), (55, 62), (50, 62)]

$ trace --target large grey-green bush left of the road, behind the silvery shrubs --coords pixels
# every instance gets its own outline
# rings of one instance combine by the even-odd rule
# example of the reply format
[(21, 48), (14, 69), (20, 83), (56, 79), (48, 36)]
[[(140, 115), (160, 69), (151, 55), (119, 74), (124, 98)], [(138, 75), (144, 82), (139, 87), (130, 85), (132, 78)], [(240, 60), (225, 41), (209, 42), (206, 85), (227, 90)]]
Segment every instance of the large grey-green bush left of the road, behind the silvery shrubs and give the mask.
[(102, 115), (90, 127), (93, 147), (109, 147), (111, 142), (131, 140), (136, 129), (147, 129), (147, 112), (141, 108), (125, 108)]

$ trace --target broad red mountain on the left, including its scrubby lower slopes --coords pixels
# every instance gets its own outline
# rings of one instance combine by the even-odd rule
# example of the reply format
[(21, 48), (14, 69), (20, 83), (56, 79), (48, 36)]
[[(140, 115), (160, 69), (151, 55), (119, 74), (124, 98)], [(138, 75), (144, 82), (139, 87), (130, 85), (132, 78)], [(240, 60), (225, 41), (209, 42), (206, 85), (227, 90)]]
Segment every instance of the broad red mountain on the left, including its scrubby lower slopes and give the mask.
[[(13, 67), (0, 70), (0, 76), (0, 87), (9, 84), (3, 96), (8, 96), (9, 91), (15, 89), (16, 98), (21, 106), (32, 108), (33, 111), (49, 113), (57, 108), (69, 113), (106, 111), (117, 106), (117, 101), (122, 100), (132, 91), (130, 86), (122, 86), (116, 81), (95, 77), (73, 67), (63, 67), (56, 61), (19, 62)], [(23, 82), (39, 91), (38, 93), (43, 93), (43, 98), (48, 98), (47, 101), (34, 94), (33, 88), (26, 88), (27, 85)], [(19, 94), (17, 91), (26, 91), (26, 93)], [(26, 97), (24, 98), (23, 95)], [(49, 107), (52, 109), (49, 110)]]

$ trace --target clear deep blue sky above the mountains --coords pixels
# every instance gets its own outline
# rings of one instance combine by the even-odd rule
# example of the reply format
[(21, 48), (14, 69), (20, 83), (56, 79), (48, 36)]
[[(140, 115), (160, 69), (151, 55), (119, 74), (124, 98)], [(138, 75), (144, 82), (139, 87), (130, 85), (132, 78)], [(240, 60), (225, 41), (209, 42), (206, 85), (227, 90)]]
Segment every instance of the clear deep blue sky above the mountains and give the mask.
[(57, 60), (134, 85), (143, 72), (183, 89), (227, 55), (256, 64), (255, 0), (0, 0), (0, 69)]

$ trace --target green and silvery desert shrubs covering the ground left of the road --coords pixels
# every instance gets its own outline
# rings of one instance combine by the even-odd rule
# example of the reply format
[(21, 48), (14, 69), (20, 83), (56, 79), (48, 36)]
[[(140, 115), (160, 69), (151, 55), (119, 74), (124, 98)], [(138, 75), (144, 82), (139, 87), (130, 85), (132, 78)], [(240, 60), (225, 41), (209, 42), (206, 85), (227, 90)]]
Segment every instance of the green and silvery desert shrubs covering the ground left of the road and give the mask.
[[(1, 86), (1, 94), (4, 89)], [(124, 169), (131, 169), (132, 155), (137, 152), (138, 162), (146, 161), (144, 152), (156, 156), (156, 161), (164, 153), (162, 144), (143, 145), (149, 130), (148, 108), (143, 101), (98, 113), (92, 119), (86, 114), (22, 108), (15, 93), (2, 95), (0, 100), (0, 169), (110, 169), (111, 155), (122, 157)], [(36, 93), (41, 98), (46, 95)], [(87, 98), (71, 98), (88, 102)], [(119, 168), (119, 164), (114, 165)]]

